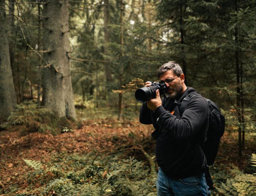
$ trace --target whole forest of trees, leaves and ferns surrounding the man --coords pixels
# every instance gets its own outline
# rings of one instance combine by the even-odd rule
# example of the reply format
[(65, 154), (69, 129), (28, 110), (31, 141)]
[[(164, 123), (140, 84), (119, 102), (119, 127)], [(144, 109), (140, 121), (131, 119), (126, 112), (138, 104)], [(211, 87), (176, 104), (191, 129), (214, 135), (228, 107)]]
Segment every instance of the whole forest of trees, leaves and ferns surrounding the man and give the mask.
[(255, 194), (255, 0), (0, 0), (0, 195), (156, 195), (134, 91), (179, 63), (226, 117), (213, 195)]

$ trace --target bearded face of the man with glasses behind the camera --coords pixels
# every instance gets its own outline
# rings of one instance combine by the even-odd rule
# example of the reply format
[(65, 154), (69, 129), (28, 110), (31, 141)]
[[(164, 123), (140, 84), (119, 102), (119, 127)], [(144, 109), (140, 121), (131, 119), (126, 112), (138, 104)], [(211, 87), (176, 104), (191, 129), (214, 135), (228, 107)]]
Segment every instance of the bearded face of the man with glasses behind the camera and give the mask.
[(172, 70), (168, 70), (160, 75), (160, 82), (166, 83), (168, 97), (175, 99), (182, 94), (182, 82), (181, 78), (173, 73)]

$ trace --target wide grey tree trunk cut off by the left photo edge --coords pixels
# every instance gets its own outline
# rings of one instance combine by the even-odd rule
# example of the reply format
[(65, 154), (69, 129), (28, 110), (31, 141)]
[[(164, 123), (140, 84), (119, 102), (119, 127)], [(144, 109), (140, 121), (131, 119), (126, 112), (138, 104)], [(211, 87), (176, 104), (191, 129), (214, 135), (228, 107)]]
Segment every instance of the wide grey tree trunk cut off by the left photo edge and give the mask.
[[(4, 0), (0, 5), (5, 7)], [(0, 8), (0, 119), (7, 118), (16, 104), (6, 27), (5, 10)]]

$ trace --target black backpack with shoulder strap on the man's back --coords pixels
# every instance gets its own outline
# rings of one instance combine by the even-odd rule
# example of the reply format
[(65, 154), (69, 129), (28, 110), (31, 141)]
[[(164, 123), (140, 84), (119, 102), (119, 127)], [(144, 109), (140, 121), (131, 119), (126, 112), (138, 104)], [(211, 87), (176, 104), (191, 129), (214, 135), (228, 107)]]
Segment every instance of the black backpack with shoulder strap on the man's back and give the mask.
[[(179, 111), (183, 114), (187, 107), (187, 104), (194, 96), (201, 95), (197, 91), (194, 91), (187, 95), (181, 103), (179, 103)], [(201, 95), (202, 96), (202, 95)], [(205, 98), (206, 99), (206, 98)], [(221, 114), (219, 107), (211, 101), (206, 99), (209, 104), (209, 128), (207, 129), (206, 141), (201, 145), (203, 152), (205, 153), (207, 165), (213, 165), (217, 156), (218, 147), (220, 144), (220, 138), (223, 136), (225, 131), (225, 117)]]

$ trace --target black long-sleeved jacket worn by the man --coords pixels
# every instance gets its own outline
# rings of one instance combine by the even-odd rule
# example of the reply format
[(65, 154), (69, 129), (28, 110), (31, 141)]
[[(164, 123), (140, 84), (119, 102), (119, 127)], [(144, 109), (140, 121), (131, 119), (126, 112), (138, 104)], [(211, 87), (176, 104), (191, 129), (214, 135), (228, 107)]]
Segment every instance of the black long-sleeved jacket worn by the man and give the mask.
[[(155, 112), (144, 102), (140, 109), (140, 122), (153, 124), (152, 137), (156, 140), (156, 160), (164, 173), (173, 178), (185, 178), (203, 173), (206, 158), (200, 144), (208, 128), (209, 106), (201, 96), (194, 96), (183, 114), (178, 104), (195, 91), (187, 88), (176, 100), (162, 100)], [(179, 100), (179, 101), (178, 101)]]

